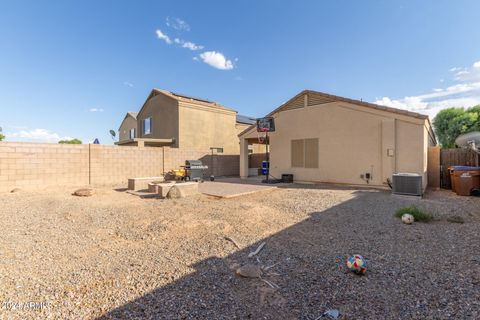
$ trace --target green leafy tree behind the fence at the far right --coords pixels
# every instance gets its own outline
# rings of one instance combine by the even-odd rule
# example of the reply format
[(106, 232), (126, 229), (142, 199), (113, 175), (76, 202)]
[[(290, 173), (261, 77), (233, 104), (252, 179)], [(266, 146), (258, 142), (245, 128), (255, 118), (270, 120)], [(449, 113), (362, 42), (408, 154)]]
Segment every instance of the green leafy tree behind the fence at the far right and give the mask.
[(440, 111), (433, 119), (433, 127), (443, 148), (455, 147), (455, 139), (467, 132), (480, 129), (480, 106), (467, 110), (448, 108)]

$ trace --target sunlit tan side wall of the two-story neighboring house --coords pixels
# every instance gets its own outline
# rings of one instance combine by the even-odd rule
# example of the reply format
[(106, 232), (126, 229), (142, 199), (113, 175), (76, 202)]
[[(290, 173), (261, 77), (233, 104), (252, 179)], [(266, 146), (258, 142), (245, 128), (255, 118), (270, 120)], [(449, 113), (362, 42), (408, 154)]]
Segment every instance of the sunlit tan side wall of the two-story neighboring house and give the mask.
[(239, 154), (236, 112), (179, 102), (179, 147), (188, 150), (223, 148)]

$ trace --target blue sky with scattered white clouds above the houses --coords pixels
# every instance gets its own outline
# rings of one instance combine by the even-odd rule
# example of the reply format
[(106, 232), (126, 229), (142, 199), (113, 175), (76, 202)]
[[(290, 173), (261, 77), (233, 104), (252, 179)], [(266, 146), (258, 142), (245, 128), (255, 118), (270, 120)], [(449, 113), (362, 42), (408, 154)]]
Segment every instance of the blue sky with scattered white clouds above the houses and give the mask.
[(0, 2), (7, 141), (112, 143), (154, 87), (262, 116), (304, 89), (480, 104), (477, 0)]

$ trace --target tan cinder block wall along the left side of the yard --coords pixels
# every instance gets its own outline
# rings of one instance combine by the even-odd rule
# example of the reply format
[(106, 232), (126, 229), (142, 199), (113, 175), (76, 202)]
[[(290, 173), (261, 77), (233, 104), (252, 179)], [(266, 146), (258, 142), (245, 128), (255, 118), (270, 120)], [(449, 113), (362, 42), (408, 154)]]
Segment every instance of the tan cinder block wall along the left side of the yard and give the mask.
[(14, 188), (125, 184), (128, 178), (160, 176), (199, 159), (206, 176), (238, 176), (238, 155), (175, 148), (0, 142), (0, 192)]

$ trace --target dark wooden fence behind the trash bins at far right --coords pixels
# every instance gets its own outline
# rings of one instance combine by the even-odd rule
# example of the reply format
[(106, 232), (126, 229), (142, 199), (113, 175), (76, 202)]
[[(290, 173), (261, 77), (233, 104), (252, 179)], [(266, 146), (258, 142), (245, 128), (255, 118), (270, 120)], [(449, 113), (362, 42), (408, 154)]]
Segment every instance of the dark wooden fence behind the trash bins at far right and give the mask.
[(451, 166), (478, 166), (478, 160), (478, 155), (469, 149), (442, 149), (440, 151), (441, 187), (452, 188), (448, 168)]

